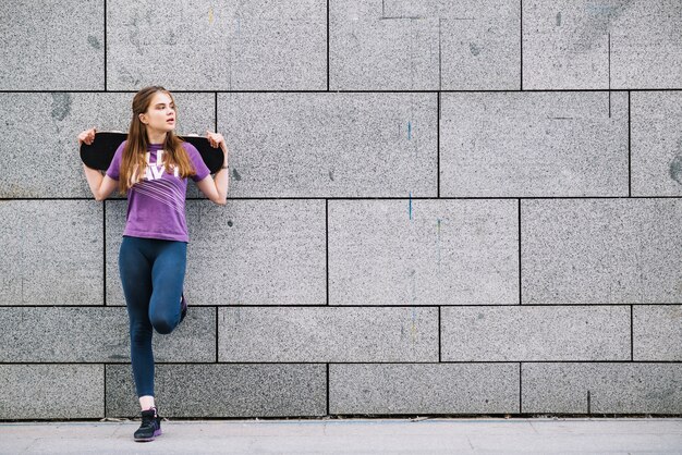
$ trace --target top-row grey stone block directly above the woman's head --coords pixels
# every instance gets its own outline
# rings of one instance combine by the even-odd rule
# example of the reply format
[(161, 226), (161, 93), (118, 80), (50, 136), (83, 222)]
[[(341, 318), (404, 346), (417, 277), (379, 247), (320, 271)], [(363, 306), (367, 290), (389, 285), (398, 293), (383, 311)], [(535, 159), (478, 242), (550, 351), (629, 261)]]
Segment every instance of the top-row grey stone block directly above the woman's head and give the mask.
[(109, 5), (107, 87), (326, 89), (326, 10), (325, 0)]

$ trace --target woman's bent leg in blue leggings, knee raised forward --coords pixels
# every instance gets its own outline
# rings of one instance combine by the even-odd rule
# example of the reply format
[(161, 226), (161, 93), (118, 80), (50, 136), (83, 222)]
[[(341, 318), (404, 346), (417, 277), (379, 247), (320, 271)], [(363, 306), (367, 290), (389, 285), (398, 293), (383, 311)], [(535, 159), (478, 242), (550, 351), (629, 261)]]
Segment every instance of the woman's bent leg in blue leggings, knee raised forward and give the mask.
[(167, 241), (151, 267), (149, 320), (157, 332), (171, 333), (180, 323), (180, 296), (185, 276), (187, 244)]

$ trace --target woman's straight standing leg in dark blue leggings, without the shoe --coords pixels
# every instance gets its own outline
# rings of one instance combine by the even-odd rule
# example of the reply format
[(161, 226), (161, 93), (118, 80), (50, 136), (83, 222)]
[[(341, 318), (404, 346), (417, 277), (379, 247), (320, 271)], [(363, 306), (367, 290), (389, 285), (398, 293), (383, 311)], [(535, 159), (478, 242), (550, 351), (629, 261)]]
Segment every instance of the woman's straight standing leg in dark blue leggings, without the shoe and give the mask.
[(151, 352), (151, 265), (142, 249), (144, 238), (123, 237), (119, 272), (125, 295), (131, 331), (131, 362), (137, 396), (154, 396), (154, 354)]

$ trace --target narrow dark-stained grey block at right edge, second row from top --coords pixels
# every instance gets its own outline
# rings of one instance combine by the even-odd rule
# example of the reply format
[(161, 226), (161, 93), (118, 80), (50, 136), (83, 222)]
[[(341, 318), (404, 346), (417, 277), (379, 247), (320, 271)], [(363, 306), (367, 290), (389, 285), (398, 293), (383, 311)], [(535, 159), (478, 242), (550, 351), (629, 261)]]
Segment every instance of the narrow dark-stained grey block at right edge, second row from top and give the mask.
[(633, 91), (632, 195), (682, 196), (682, 93)]

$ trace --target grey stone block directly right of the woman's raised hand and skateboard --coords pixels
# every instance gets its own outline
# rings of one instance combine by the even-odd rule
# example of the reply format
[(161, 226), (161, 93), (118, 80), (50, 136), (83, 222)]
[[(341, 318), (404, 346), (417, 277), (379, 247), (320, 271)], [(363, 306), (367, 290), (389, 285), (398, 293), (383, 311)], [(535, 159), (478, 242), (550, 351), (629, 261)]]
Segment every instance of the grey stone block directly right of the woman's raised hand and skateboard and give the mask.
[(437, 94), (219, 94), (230, 197), (437, 196)]

